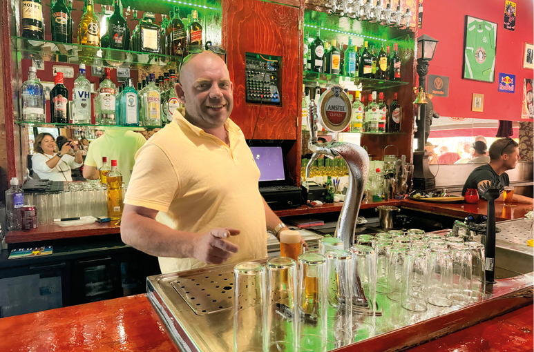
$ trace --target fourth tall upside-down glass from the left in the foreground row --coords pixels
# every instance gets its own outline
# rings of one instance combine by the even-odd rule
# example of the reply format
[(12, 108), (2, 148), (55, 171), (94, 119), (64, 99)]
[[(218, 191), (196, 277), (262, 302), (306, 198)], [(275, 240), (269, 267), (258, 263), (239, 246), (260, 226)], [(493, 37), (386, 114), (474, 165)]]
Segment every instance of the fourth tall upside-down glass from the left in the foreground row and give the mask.
[(352, 343), (352, 253), (326, 252), (327, 350)]

